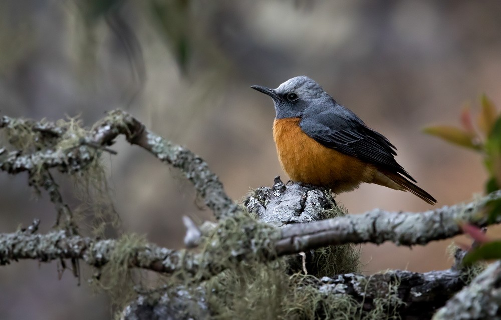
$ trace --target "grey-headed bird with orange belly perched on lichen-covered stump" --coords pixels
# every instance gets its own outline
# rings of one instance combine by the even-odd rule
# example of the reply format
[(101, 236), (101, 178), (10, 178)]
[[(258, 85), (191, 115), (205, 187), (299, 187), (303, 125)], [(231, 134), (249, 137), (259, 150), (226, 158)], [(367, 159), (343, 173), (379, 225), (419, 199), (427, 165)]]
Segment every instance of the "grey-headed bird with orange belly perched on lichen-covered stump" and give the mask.
[(361, 183), (409, 191), (437, 202), (396, 162), (396, 148), (341, 106), (313, 79), (294, 77), (276, 89), (251, 86), (273, 99), (273, 138), (282, 169), (292, 181), (327, 187), (335, 194)]

